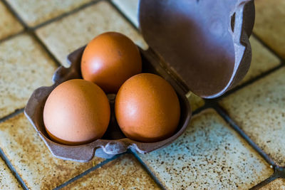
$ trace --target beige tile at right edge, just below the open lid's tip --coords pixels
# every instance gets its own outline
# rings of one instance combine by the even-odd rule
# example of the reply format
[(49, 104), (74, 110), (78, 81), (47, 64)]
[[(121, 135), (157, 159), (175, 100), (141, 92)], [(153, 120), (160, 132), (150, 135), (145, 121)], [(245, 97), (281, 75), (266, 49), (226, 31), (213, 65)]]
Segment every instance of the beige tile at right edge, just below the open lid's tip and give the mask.
[(225, 97), (229, 116), (275, 162), (285, 165), (285, 68)]

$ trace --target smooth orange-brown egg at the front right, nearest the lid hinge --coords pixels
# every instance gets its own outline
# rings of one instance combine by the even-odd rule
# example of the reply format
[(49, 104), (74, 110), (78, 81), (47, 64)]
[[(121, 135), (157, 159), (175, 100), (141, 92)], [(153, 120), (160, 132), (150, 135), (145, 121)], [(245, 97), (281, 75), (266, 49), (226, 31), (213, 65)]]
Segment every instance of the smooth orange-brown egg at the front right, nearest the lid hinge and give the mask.
[(128, 138), (157, 142), (175, 132), (180, 103), (166, 80), (142, 73), (125, 81), (120, 88), (115, 99), (115, 117)]

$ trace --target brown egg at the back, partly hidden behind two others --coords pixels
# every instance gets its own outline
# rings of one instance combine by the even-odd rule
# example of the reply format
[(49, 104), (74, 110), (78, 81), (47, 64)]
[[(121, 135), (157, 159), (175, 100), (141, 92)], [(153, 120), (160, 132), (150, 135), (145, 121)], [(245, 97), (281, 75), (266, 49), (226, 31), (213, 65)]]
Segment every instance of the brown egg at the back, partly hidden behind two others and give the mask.
[(116, 32), (95, 37), (86, 46), (81, 60), (83, 78), (100, 86), (105, 93), (117, 93), (125, 80), (141, 70), (138, 47), (130, 38)]

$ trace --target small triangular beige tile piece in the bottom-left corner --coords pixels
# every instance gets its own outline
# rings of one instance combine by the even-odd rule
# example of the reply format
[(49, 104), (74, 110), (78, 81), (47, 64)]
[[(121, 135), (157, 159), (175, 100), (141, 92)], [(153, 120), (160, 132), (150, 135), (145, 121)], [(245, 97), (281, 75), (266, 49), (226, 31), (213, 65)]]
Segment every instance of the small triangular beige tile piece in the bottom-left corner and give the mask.
[(0, 189), (22, 189), (5, 162), (0, 158)]

